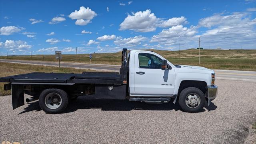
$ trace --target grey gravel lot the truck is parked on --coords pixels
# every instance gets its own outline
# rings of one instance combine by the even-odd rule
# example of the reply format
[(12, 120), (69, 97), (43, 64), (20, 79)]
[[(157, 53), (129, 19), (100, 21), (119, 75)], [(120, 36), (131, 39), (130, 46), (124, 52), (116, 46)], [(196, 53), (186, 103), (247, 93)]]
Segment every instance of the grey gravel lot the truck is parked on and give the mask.
[[(45, 114), (38, 101), (12, 110), (0, 97), (0, 142), (232, 143), (256, 139), (256, 84), (217, 80), (218, 97), (199, 113), (176, 104), (144, 104), (78, 97), (62, 114)], [(251, 140), (249, 138), (249, 141)]]

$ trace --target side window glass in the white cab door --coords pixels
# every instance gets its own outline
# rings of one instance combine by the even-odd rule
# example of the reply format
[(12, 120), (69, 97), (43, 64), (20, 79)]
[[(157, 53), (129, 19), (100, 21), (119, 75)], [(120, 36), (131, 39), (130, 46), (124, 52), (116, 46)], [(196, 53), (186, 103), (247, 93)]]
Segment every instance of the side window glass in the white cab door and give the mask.
[(139, 53), (139, 68), (161, 69), (162, 59), (154, 54)]

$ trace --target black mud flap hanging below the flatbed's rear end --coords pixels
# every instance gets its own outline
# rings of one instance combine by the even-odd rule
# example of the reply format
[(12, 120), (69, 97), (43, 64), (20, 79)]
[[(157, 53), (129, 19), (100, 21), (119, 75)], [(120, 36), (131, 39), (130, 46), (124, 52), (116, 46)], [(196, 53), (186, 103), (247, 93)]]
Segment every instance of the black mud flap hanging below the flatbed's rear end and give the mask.
[(24, 105), (24, 90), (22, 84), (12, 84), (12, 108)]

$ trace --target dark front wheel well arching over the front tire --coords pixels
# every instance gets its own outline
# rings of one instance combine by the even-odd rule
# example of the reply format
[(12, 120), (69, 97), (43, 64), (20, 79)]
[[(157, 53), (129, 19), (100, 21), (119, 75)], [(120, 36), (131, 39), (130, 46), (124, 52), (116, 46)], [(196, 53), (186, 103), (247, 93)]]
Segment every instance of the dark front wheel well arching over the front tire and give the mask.
[(178, 91), (178, 96), (180, 95), (180, 92), (182, 90), (184, 90), (185, 88), (188, 88), (188, 87), (198, 88), (198, 89), (202, 90), (202, 92), (205, 94), (206, 93), (206, 86), (207, 86), (207, 84), (204, 81), (183, 80), (180, 83), (180, 87), (179, 87), (179, 91)]

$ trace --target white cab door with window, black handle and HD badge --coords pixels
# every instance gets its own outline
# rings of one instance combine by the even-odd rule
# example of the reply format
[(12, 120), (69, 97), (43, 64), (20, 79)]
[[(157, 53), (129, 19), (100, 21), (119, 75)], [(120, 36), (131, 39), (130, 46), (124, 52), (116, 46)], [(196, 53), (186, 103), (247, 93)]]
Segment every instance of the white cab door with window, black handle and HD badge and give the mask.
[(174, 70), (162, 70), (162, 59), (150, 52), (136, 52), (134, 91), (137, 95), (170, 96), (174, 91)]

